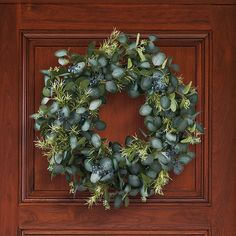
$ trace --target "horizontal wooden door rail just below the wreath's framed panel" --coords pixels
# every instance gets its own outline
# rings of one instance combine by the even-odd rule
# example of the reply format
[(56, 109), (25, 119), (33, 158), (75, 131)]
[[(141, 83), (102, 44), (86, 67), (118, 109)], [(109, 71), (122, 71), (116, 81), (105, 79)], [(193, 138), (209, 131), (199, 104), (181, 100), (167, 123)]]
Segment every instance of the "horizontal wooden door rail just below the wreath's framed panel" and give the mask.
[[(157, 230), (210, 229), (211, 209), (199, 206), (131, 204), (129, 208), (88, 210), (86, 205), (31, 204), (20, 206), (21, 229), (57, 230)], [(233, 232), (233, 231), (232, 231)], [(222, 234), (222, 236), (224, 236)], [(233, 236), (233, 235), (232, 235)]]

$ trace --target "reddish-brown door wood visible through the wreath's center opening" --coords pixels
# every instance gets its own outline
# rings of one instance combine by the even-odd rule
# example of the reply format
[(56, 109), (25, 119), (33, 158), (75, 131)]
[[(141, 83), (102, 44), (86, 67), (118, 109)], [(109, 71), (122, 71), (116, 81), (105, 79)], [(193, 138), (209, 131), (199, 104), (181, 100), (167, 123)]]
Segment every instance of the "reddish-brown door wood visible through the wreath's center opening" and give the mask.
[(100, 108), (100, 119), (107, 127), (99, 134), (109, 141), (125, 143), (127, 135), (145, 130), (144, 118), (139, 115), (139, 108), (144, 103), (144, 96), (131, 98), (126, 92), (107, 95), (106, 104)]

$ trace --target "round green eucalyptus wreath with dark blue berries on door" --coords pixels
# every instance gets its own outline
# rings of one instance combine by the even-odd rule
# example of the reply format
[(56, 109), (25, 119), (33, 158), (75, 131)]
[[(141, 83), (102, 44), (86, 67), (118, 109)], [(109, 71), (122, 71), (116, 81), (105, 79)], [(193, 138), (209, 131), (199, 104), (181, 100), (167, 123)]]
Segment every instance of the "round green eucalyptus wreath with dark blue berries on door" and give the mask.
[[(42, 70), (43, 98), (32, 115), (40, 131), (36, 147), (52, 176), (66, 177), (70, 193), (90, 192), (89, 207), (101, 201), (110, 209), (112, 201), (119, 208), (136, 195), (142, 201), (163, 195), (169, 172), (180, 174), (195, 156), (189, 146), (204, 131), (196, 122), (198, 93), (156, 40), (114, 30), (98, 48), (91, 42), (86, 55), (56, 51), (59, 66)], [(106, 128), (99, 108), (118, 92), (145, 96), (139, 114), (146, 129), (127, 136), (124, 146), (98, 134)]]

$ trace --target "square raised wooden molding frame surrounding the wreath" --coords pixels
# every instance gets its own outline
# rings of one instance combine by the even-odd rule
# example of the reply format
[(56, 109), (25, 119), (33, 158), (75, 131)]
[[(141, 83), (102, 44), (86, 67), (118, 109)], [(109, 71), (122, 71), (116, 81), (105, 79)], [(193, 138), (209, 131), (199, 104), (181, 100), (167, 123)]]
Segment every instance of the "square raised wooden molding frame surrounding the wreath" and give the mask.
[[(211, 150), (210, 150), (210, 106), (211, 100), (211, 32), (203, 31), (140, 31), (143, 35), (158, 34), (159, 45), (162, 47), (193, 47), (195, 50), (195, 83), (199, 89), (202, 111), (200, 121), (206, 128), (202, 144), (196, 148), (195, 184), (194, 189), (180, 189), (167, 192), (164, 197), (151, 198), (149, 204), (178, 204), (196, 203), (207, 204), (211, 202)], [(20, 73), (21, 73), (21, 158), (20, 158), (20, 203), (76, 203), (84, 204), (86, 194), (79, 198), (69, 196), (67, 190), (45, 190), (35, 188), (35, 149), (33, 146), (34, 131), (33, 120), (29, 118), (34, 112), (35, 102), (35, 52), (39, 47), (76, 47), (78, 42), (81, 47), (86, 47), (90, 40), (101, 40), (107, 32), (54, 32), (54, 31), (22, 31), (20, 48)], [(187, 59), (186, 59), (187, 60)], [(133, 202), (140, 202), (134, 199)], [(60, 235), (60, 233), (58, 233)], [(187, 235), (192, 235), (186, 233)], [(22, 235), (37, 235), (23, 232)], [(47, 233), (42, 233), (47, 235)], [(68, 234), (65, 234), (68, 235)], [(69, 234), (70, 235), (70, 234)], [(76, 235), (76, 233), (74, 234)], [(86, 235), (86, 234), (85, 234)], [(168, 235), (156, 234), (156, 235)], [(178, 234), (171, 234), (178, 235)], [(207, 234), (194, 234), (207, 235)]]

